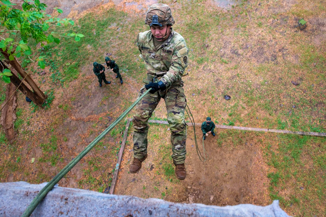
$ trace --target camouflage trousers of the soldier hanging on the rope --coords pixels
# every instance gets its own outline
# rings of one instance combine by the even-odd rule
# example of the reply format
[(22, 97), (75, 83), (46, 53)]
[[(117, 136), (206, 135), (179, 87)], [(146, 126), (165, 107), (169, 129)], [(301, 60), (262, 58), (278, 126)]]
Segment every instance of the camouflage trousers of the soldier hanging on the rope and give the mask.
[[(170, 124), (171, 157), (173, 163), (185, 163), (185, 141), (187, 138), (187, 128), (185, 124), (186, 98), (182, 86), (183, 84), (179, 83), (179, 85), (171, 86), (165, 91), (159, 91), (154, 94), (148, 93), (136, 105), (136, 112), (132, 120), (134, 125), (133, 149), (135, 158), (141, 159), (147, 153), (148, 119), (152, 116), (160, 99), (163, 98), (168, 113), (168, 122)], [(138, 97), (145, 91), (146, 88), (143, 86)]]

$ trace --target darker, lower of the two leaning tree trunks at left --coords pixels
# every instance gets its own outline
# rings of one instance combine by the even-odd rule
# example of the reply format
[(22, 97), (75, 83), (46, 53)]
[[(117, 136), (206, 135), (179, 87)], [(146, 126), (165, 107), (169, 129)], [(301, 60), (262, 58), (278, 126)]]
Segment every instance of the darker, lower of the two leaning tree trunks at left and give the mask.
[[(1, 72), (3, 72), (5, 68), (9, 69), (1, 60), (0, 63), (1, 65), (3, 65), (3, 68), (0, 67)], [(41, 106), (43, 103), (43, 99), (38, 97), (35, 93), (28, 89), (28, 87), (17, 77), (17, 75), (13, 73), (13, 71), (11, 72), (12, 76), (9, 76), (11, 83), (18, 87), (18, 90), (20, 90), (25, 96), (30, 98), (35, 104)]]

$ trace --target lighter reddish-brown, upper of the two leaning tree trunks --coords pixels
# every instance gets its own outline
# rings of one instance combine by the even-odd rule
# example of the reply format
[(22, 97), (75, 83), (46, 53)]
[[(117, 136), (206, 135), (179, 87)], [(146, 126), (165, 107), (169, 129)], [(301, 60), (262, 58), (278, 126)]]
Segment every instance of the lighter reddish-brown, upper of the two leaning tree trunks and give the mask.
[[(33, 89), (35, 95), (37, 97), (37, 100), (33, 100), (33, 98), (30, 98), (31, 100), (33, 100), (34, 103), (36, 103), (38, 106), (41, 106), (43, 104), (43, 102), (46, 99), (46, 95), (38, 88), (37, 84), (34, 82), (34, 80), (22, 69), (22, 66), (19, 64), (19, 62), (14, 59), (14, 60), (9, 60), (9, 54), (6, 51), (2, 51), (0, 50), (1, 53), (7, 58), (8, 63), (14, 68), (16, 69), (17, 73), (19, 73), (23, 78), (25, 78), (25, 81), (31, 86), (31, 88)], [(11, 77), (11, 76), (10, 76)], [(11, 80), (11, 79), (10, 79)], [(19, 82), (20, 83), (20, 82)], [(16, 85), (16, 84), (15, 84)], [(23, 92), (24, 93), (24, 92)], [(25, 94), (25, 93), (24, 93)], [(26, 95), (26, 94), (25, 94)], [(26, 95), (27, 96), (27, 95)], [(29, 96), (27, 96), (29, 98)]]

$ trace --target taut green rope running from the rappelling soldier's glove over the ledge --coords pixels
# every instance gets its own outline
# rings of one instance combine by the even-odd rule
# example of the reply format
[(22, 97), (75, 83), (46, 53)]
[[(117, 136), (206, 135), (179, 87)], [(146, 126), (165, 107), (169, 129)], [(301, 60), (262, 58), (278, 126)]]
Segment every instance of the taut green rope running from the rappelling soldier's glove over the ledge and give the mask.
[(99, 142), (107, 133), (111, 131), (111, 129), (117, 125), (127, 114), (128, 112), (134, 108), (137, 103), (150, 92), (152, 88), (148, 89), (144, 94), (142, 94), (124, 113), (122, 113), (117, 120), (115, 120), (108, 128), (106, 128), (98, 137), (96, 137), (80, 154), (77, 155), (72, 161), (68, 163), (68, 165), (63, 168), (50, 182), (42, 188), (42, 190), (37, 194), (37, 196), (33, 199), (31, 204), (24, 211), (22, 216), (28, 217), (35, 210), (37, 205), (42, 201), (42, 199), (48, 194), (49, 191), (52, 190), (54, 185), (56, 185), (71, 169), (74, 167), (91, 149)]

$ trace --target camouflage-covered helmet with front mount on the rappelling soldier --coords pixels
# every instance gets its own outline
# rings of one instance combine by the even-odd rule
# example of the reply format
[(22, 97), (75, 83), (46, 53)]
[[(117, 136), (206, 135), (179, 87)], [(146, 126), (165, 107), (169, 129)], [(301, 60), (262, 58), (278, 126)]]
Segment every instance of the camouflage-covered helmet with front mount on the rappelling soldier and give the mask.
[(172, 17), (170, 7), (161, 3), (157, 3), (149, 7), (146, 12), (145, 24), (150, 26), (172, 26), (174, 24), (174, 19)]

